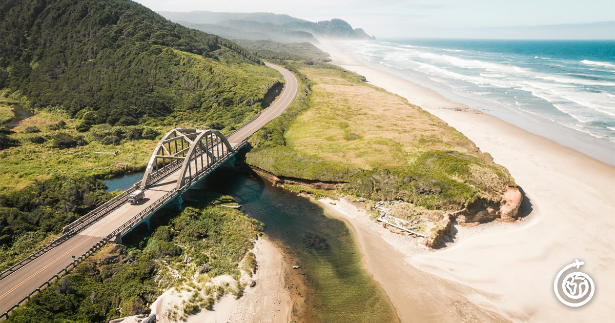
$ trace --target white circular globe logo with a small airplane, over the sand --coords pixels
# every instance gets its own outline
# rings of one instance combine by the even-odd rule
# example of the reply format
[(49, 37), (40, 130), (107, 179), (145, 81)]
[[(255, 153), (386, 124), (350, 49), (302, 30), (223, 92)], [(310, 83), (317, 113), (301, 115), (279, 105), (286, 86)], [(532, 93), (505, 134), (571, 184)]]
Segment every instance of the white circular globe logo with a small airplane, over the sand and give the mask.
[[(570, 265), (561, 268), (560, 272), (557, 274), (557, 277), (555, 277), (555, 282), (553, 284), (555, 296), (557, 296), (558, 300), (560, 300), (561, 303), (564, 303), (565, 305), (572, 307), (582, 306), (587, 304), (587, 302), (593, 297), (593, 292), (595, 292), (595, 289), (593, 287), (592, 278), (587, 276), (587, 274), (585, 273), (581, 273), (580, 271), (569, 273), (568, 275), (566, 275), (566, 277), (564, 277), (563, 281), (561, 281), (562, 292), (569, 300), (573, 301), (566, 301), (560, 295), (560, 289), (558, 289), (558, 282), (560, 281), (561, 275), (565, 273), (565, 271), (569, 268), (576, 267), (577, 269), (579, 269), (581, 265), (585, 265), (585, 263), (583, 261), (574, 260), (574, 262)], [(585, 297), (588, 292), (589, 296)], [(581, 300), (584, 297), (585, 299)], [(579, 301), (578, 303), (574, 303), (574, 300), (581, 301)]]

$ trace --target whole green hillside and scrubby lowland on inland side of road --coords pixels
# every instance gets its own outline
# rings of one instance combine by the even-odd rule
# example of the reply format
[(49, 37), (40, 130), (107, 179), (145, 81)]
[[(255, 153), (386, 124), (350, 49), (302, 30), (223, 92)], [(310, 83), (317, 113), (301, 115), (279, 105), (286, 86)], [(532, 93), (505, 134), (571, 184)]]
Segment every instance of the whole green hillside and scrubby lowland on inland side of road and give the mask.
[[(111, 198), (173, 127), (230, 132), (281, 74), (236, 44), (129, 0), (0, 2), (0, 270)], [(114, 152), (116, 154), (98, 154)]]

